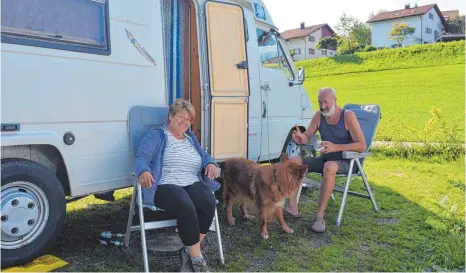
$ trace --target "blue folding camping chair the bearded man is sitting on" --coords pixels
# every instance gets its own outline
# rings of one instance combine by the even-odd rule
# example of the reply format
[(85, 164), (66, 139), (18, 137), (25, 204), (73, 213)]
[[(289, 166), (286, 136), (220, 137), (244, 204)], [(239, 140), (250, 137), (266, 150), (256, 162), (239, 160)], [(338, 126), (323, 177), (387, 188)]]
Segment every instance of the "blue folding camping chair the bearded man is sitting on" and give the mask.
[[(371, 191), (371, 188), (369, 187), (369, 182), (367, 181), (367, 176), (366, 176), (366, 173), (364, 172), (363, 166), (364, 166), (364, 161), (366, 157), (371, 155), (369, 153), (369, 149), (372, 146), (372, 140), (374, 139), (375, 131), (377, 129), (377, 125), (379, 124), (379, 120), (381, 118), (380, 107), (376, 104), (367, 104), (367, 105), (346, 104), (343, 107), (343, 109), (351, 110), (356, 114), (356, 117), (359, 121), (359, 125), (361, 126), (361, 130), (364, 134), (364, 139), (366, 141), (366, 152), (364, 153), (343, 152), (343, 159), (350, 160), (350, 167), (349, 167), (349, 171), (347, 174), (337, 174), (337, 177), (346, 177), (346, 183), (345, 183), (344, 189), (341, 189), (337, 186), (335, 186), (335, 189), (334, 189), (335, 192), (343, 193), (343, 198), (341, 200), (341, 205), (340, 205), (340, 211), (338, 212), (337, 226), (341, 225), (341, 219), (343, 217), (343, 210), (345, 208), (346, 197), (348, 196), (348, 194), (370, 199), (372, 202), (372, 206), (374, 207), (374, 210), (376, 212), (379, 211), (379, 209), (377, 208), (375, 199), (374, 199), (374, 195)], [(302, 155), (312, 154), (315, 151), (314, 145), (312, 144), (301, 145), (300, 148), (301, 148)], [(353, 167), (355, 164), (357, 166), (357, 172), (353, 173)], [(318, 174), (322, 175), (321, 173), (318, 173)], [(352, 178), (357, 177), (357, 176), (362, 178), (367, 194), (349, 191), (349, 185), (350, 185)], [(304, 181), (303, 184), (313, 185), (313, 183), (310, 181)], [(319, 185), (316, 185), (316, 186), (320, 186), (320, 183)], [(298, 201), (299, 201), (300, 195), (301, 195), (301, 189), (298, 192), (298, 197), (297, 197)], [(332, 194), (332, 199), (334, 199), (333, 194)]]

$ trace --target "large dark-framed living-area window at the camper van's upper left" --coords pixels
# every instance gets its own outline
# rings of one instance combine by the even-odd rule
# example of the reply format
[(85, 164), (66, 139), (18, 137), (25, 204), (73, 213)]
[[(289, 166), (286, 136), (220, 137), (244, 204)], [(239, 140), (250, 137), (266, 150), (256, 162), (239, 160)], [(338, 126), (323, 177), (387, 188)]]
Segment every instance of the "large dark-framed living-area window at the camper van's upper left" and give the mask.
[(2, 0), (2, 43), (110, 55), (108, 0)]

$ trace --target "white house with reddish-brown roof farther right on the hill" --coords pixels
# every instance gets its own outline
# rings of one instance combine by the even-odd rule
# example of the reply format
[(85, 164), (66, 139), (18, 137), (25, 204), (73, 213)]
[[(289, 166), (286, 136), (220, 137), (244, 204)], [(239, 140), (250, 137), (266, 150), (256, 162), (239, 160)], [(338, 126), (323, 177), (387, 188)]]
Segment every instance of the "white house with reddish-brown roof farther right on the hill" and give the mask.
[(403, 46), (435, 43), (442, 35), (445, 19), (437, 4), (410, 7), (379, 13), (367, 21), (372, 28), (372, 45), (375, 47), (396, 47), (397, 42), (389, 39), (393, 24), (408, 24), (416, 28), (413, 35), (403, 41)]

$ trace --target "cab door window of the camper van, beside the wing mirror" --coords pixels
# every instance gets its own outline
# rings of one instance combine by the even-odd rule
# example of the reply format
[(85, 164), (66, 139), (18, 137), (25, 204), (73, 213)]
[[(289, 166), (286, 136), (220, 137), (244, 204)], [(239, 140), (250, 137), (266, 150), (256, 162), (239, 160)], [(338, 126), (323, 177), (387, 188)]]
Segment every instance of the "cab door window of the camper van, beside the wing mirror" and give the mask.
[(277, 38), (262, 29), (257, 29), (257, 42), (262, 67), (281, 70), (287, 79), (292, 81), (294, 76), (290, 64)]

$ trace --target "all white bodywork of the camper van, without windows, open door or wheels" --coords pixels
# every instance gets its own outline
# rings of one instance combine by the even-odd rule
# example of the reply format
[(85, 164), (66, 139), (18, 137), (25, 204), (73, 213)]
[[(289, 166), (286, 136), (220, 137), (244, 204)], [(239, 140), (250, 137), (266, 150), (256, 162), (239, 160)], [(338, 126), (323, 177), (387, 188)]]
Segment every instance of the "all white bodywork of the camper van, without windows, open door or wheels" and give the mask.
[[(20, 124), (19, 131), (2, 132), (2, 158), (27, 158), (28, 152), (15, 149), (18, 146), (25, 146), (26, 150), (30, 145), (55, 147), (66, 166), (70, 196), (109, 191), (133, 183), (127, 113), (134, 105), (167, 106), (161, 2), (137, 2), (109, 2), (108, 56), (2, 43), (1, 123)], [(203, 112), (199, 115), (203, 128), (201, 144), (209, 151), (211, 97), (205, 2), (196, 2), (196, 13), (201, 86), (205, 88)], [(265, 71), (261, 67), (256, 31), (274, 28), (263, 3), (219, 2), (241, 6), (249, 37), (247, 157), (277, 158), (290, 130), (295, 125), (310, 124), (312, 108), (302, 108), (303, 98), (308, 100), (302, 85), (289, 87), (280, 78), (281, 71)], [(254, 5), (264, 9), (266, 20), (258, 19)], [(133, 45), (132, 38), (155, 64)], [(288, 52), (285, 45), (283, 49)], [(290, 67), (297, 75), (294, 64)], [(264, 81), (272, 86), (268, 95), (261, 88)], [(287, 90), (280, 90), (285, 87)], [(75, 136), (72, 145), (64, 143), (67, 132)]]

